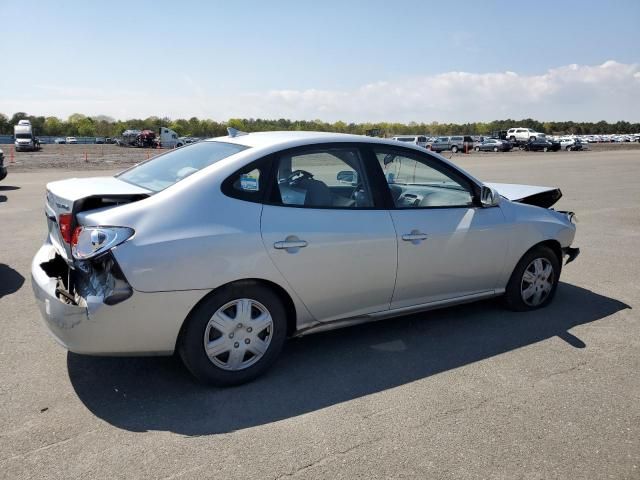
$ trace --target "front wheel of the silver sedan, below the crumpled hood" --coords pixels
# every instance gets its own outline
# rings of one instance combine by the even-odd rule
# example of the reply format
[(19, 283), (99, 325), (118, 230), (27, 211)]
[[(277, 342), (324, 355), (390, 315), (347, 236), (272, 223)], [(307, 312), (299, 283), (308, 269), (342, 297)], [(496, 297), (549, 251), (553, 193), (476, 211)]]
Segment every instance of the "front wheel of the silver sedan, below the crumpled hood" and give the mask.
[(505, 303), (510, 310), (524, 312), (544, 308), (558, 288), (562, 265), (549, 247), (532, 248), (518, 262), (505, 291)]

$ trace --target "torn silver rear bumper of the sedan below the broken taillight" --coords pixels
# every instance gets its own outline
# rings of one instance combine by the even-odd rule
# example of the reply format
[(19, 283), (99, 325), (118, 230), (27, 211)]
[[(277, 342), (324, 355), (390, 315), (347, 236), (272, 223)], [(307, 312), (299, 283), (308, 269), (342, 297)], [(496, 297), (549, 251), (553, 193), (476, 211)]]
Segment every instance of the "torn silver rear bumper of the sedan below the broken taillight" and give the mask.
[[(88, 355), (170, 355), (182, 322), (206, 290), (135, 292), (108, 305), (99, 296), (67, 296), (47, 270), (56, 258), (45, 243), (31, 264), (31, 283), (43, 323), (67, 350)], [(45, 265), (45, 268), (43, 268)]]

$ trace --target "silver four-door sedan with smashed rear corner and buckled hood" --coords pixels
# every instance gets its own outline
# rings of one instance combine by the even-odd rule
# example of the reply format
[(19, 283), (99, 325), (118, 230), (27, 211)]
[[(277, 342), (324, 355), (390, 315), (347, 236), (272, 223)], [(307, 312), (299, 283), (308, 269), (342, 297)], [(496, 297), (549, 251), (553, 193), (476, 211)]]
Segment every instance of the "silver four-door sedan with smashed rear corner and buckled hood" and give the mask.
[(394, 141), (231, 130), (48, 184), (33, 290), (70, 351), (178, 351), (237, 384), (291, 336), (495, 296), (546, 306), (578, 254), (560, 196)]

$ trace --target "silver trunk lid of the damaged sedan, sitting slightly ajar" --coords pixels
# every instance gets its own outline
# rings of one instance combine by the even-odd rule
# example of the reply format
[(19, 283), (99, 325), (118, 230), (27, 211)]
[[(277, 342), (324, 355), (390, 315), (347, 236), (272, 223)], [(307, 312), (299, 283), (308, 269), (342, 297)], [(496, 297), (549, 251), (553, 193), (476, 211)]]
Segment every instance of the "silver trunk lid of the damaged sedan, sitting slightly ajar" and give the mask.
[(76, 215), (86, 210), (113, 208), (149, 197), (153, 192), (116, 177), (70, 178), (47, 184), (45, 214), (49, 239), (60, 255), (71, 263), (71, 245), (60, 233), (60, 215), (71, 215), (71, 228), (78, 226)]

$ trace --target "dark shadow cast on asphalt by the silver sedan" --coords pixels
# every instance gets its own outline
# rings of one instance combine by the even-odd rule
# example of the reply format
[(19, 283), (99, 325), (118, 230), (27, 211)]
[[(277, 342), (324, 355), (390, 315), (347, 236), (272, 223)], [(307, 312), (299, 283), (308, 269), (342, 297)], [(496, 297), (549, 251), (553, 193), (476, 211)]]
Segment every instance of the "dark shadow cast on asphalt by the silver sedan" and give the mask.
[[(527, 313), (498, 301), (463, 305), (295, 339), (263, 377), (233, 388), (196, 383), (175, 357), (69, 353), (80, 400), (131, 431), (208, 435), (295, 417), (559, 336), (628, 305), (561, 283), (554, 302)], [(570, 355), (571, 353), (568, 353)]]

